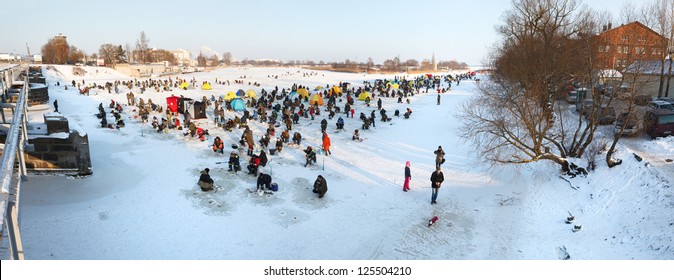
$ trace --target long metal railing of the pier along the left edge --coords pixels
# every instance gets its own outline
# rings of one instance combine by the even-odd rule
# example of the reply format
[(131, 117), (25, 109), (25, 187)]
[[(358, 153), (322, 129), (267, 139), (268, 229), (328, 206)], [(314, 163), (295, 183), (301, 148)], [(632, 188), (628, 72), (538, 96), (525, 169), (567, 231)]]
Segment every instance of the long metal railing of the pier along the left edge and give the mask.
[[(26, 70), (27, 71), (27, 70)], [(26, 73), (28, 74), (28, 73)], [(3, 75), (4, 76), (4, 75)], [(3, 81), (7, 83), (8, 81)], [(12, 81), (9, 81), (11, 84)], [(0, 224), (2, 235), (5, 237), (5, 229), (7, 230), (7, 238), (9, 241), (10, 258), (15, 260), (23, 259), (23, 246), (21, 244), (21, 233), (19, 230), (19, 193), (21, 189), (21, 181), (26, 176), (26, 164), (24, 161), (24, 146), (27, 139), (26, 131), (26, 103), (28, 98), (28, 75), (23, 83), (23, 89), (19, 93), (14, 110), (12, 124), (7, 131), (7, 140), (3, 148), (2, 159), (0, 160), (0, 172), (2, 172), (1, 186), (2, 186), (2, 201), (0, 201), (0, 213), (2, 215), (2, 224)], [(6, 94), (3, 92), (2, 94)], [(14, 163), (19, 161), (19, 175), (21, 177), (15, 178)], [(14, 180), (15, 179), (15, 180)]]

